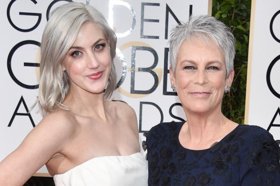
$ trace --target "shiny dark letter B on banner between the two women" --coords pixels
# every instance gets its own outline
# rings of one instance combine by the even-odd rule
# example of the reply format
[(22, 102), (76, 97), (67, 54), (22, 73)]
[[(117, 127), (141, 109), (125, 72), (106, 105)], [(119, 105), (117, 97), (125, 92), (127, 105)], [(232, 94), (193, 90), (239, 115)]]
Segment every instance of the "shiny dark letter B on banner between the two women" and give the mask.
[[(157, 74), (155, 73), (155, 71), (153, 71), (152, 69), (154, 69), (157, 66), (157, 62), (158, 62), (158, 56), (157, 56), (157, 52), (150, 48), (150, 47), (139, 47), (139, 46), (132, 46), (131, 47), (131, 86), (130, 86), (130, 93), (131, 94), (150, 94), (152, 92), (154, 92), (157, 88), (158, 85), (158, 77)], [(153, 87), (150, 90), (135, 90), (135, 59), (136, 59), (136, 50), (146, 50), (149, 51), (153, 54), (155, 60), (152, 66), (147, 67), (147, 68), (138, 68), (139, 72), (148, 72), (150, 74), (152, 74), (152, 76), (154, 77), (155, 83), (153, 85)]]

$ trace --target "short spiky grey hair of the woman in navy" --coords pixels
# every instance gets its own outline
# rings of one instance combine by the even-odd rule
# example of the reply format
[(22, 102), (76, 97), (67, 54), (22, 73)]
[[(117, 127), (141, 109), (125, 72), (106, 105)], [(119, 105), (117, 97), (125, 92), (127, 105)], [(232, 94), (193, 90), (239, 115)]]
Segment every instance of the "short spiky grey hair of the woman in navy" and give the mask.
[(169, 39), (169, 62), (175, 73), (176, 59), (181, 44), (184, 41), (195, 42), (198, 38), (206, 46), (211, 46), (211, 40), (225, 57), (226, 77), (233, 69), (235, 54), (235, 38), (230, 32), (230, 28), (209, 15), (191, 16), (188, 23), (179, 24), (173, 28)]

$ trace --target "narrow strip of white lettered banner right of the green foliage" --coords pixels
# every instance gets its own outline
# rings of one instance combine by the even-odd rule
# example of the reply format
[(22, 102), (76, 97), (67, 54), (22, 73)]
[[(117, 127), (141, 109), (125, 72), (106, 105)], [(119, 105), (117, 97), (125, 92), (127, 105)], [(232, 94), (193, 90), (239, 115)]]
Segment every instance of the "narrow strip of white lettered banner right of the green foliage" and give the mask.
[(280, 140), (280, 1), (252, 0), (245, 124)]

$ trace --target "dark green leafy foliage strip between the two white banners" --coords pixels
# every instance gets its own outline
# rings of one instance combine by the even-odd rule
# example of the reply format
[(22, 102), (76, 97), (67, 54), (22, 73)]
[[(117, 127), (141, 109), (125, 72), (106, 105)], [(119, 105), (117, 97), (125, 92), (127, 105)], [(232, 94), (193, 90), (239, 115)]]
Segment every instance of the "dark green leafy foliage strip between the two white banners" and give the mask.
[(229, 26), (236, 39), (234, 81), (223, 99), (222, 112), (244, 124), (251, 0), (213, 0), (212, 5), (212, 16)]

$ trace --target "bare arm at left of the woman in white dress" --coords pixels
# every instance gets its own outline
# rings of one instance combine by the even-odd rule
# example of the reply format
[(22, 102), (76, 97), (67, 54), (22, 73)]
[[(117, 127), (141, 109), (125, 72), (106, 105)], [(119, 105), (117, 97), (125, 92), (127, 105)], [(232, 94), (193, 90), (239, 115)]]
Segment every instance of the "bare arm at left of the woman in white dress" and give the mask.
[(0, 185), (23, 185), (62, 149), (69, 133), (62, 120), (63, 117), (57, 115), (46, 116), (20, 146), (0, 162)]

